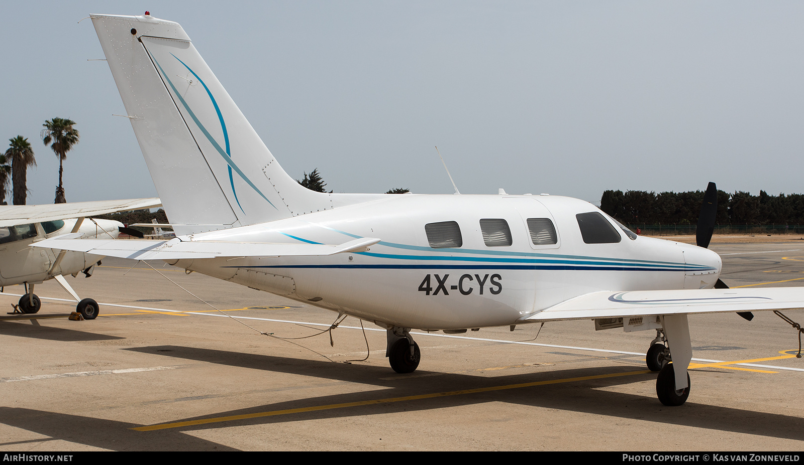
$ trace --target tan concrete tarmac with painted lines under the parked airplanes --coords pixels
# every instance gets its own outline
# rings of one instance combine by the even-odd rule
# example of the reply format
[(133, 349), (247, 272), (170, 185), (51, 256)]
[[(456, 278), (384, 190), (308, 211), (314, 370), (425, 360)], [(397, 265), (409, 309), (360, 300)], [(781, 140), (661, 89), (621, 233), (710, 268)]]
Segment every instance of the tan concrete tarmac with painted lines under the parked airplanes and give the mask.
[[(804, 286), (804, 241), (711, 248), (730, 287)], [(421, 363), (400, 375), (373, 324), (329, 332), (332, 312), (154, 266), (104, 259), (68, 277), (100, 302), (96, 320), (68, 320), (75, 302), (53, 281), (36, 286), (34, 317), (0, 316), (0, 450), (804, 449), (804, 359), (773, 312), (690, 316), (691, 394), (666, 407), (645, 366), (651, 331), (414, 331)], [(22, 294), (7, 287), (0, 305)]]

